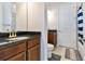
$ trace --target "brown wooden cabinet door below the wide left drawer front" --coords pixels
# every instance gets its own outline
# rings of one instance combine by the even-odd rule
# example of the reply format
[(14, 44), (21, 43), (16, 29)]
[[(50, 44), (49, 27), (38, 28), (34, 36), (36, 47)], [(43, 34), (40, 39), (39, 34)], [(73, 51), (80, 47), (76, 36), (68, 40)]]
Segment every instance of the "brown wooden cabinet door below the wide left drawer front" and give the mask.
[(9, 59), (8, 61), (26, 61), (26, 52), (22, 52), (11, 59)]

